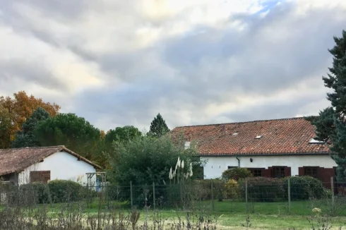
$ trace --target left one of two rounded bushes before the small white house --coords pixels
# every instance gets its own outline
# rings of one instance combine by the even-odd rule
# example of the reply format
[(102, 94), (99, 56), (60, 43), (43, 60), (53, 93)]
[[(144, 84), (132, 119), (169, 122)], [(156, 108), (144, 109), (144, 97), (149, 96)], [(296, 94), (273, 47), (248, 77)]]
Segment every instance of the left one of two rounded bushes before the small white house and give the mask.
[(28, 183), (19, 187), (18, 198), (23, 205), (35, 205), (52, 202), (46, 183)]

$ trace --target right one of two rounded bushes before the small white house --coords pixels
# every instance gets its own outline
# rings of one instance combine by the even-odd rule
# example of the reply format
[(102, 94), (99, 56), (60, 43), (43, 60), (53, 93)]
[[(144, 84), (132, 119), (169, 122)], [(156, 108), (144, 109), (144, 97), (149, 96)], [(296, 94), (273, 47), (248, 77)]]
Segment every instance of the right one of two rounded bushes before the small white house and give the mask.
[(53, 180), (48, 183), (52, 202), (72, 202), (83, 198), (80, 183), (65, 180)]

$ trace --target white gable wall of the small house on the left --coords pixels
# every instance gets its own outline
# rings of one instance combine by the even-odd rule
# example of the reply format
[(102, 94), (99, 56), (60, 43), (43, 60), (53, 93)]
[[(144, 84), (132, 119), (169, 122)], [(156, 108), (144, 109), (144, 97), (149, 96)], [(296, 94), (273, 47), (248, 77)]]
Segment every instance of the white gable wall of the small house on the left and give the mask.
[[(46, 157), (43, 162), (28, 167), (18, 174), (18, 184), (30, 182), (30, 171), (50, 171), (51, 181), (54, 179), (71, 180), (86, 185), (86, 173), (95, 172), (94, 167), (67, 152), (56, 152)], [(93, 183), (96, 176), (93, 176)]]

